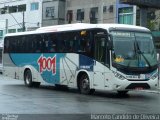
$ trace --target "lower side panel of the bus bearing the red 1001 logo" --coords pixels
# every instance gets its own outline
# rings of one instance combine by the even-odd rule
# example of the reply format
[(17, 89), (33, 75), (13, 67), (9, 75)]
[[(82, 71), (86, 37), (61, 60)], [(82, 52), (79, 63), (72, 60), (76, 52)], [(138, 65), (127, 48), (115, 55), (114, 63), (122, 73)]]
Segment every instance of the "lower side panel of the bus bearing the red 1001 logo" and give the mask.
[(5, 66), (11, 66), (5, 67), (6, 74), (12, 78), (23, 80), (25, 69), (30, 69), (35, 82), (77, 87), (76, 73), (83, 69), (92, 73), (90, 78), (93, 80), (94, 60), (84, 55), (75, 53), (12, 53), (10, 56), (5, 55), (4, 57), (7, 59), (4, 62)]

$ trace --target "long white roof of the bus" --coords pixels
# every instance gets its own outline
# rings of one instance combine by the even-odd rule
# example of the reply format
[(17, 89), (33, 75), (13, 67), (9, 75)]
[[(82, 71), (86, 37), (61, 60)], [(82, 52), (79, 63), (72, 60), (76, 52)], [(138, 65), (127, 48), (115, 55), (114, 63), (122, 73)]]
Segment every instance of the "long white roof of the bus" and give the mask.
[(65, 24), (65, 25), (55, 25), (48, 27), (41, 27), (35, 31), (19, 32), (19, 33), (10, 33), (6, 36), (18, 36), (18, 35), (27, 35), (27, 34), (41, 34), (49, 32), (61, 32), (61, 31), (74, 31), (82, 29), (92, 29), (92, 28), (102, 28), (109, 31), (109, 29), (127, 29), (127, 30), (137, 30), (137, 31), (146, 31), (150, 30), (145, 27), (126, 25), (126, 24), (89, 24), (89, 23), (75, 23), (75, 24)]

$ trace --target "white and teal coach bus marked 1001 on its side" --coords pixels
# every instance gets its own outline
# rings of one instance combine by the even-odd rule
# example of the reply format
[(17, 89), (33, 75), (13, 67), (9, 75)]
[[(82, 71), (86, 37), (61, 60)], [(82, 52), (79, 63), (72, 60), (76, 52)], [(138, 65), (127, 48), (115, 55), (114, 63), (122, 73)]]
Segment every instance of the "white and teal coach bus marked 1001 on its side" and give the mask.
[(43, 85), (95, 90), (157, 89), (158, 63), (149, 29), (122, 24), (76, 23), (7, 34), (3, 74)]

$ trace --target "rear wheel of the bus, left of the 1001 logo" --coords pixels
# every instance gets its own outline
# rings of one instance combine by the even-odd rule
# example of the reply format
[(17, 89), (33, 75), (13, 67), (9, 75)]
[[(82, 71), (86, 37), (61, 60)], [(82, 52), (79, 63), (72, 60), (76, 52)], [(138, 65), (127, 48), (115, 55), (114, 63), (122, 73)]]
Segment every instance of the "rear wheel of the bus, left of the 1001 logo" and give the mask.
[(27, 70), (24, 74), (24, 83), (27, 87), (32, 87), (33, 82), (32, 82), (32, 73), (30, 70)]

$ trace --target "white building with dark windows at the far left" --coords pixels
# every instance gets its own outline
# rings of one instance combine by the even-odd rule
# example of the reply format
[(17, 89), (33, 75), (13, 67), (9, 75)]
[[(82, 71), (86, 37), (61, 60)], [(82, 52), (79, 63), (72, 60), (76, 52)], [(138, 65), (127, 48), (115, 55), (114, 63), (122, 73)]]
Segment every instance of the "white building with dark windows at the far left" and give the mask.
[(41, 26), (41, 0), (10, 0), (0, 3), (0, 19), (8, 20), (7, 32), (33, 30)]

